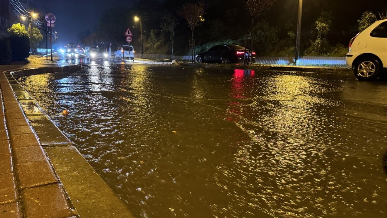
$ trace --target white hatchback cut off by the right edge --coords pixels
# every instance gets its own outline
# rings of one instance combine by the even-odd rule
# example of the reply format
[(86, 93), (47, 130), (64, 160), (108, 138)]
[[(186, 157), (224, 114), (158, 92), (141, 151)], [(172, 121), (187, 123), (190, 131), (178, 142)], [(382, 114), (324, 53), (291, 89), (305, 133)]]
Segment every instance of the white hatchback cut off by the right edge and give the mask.
[(349, 42), (347, 66), (359, 80), (378, 78), (387, 70), (387, 19), (376, 21)]

